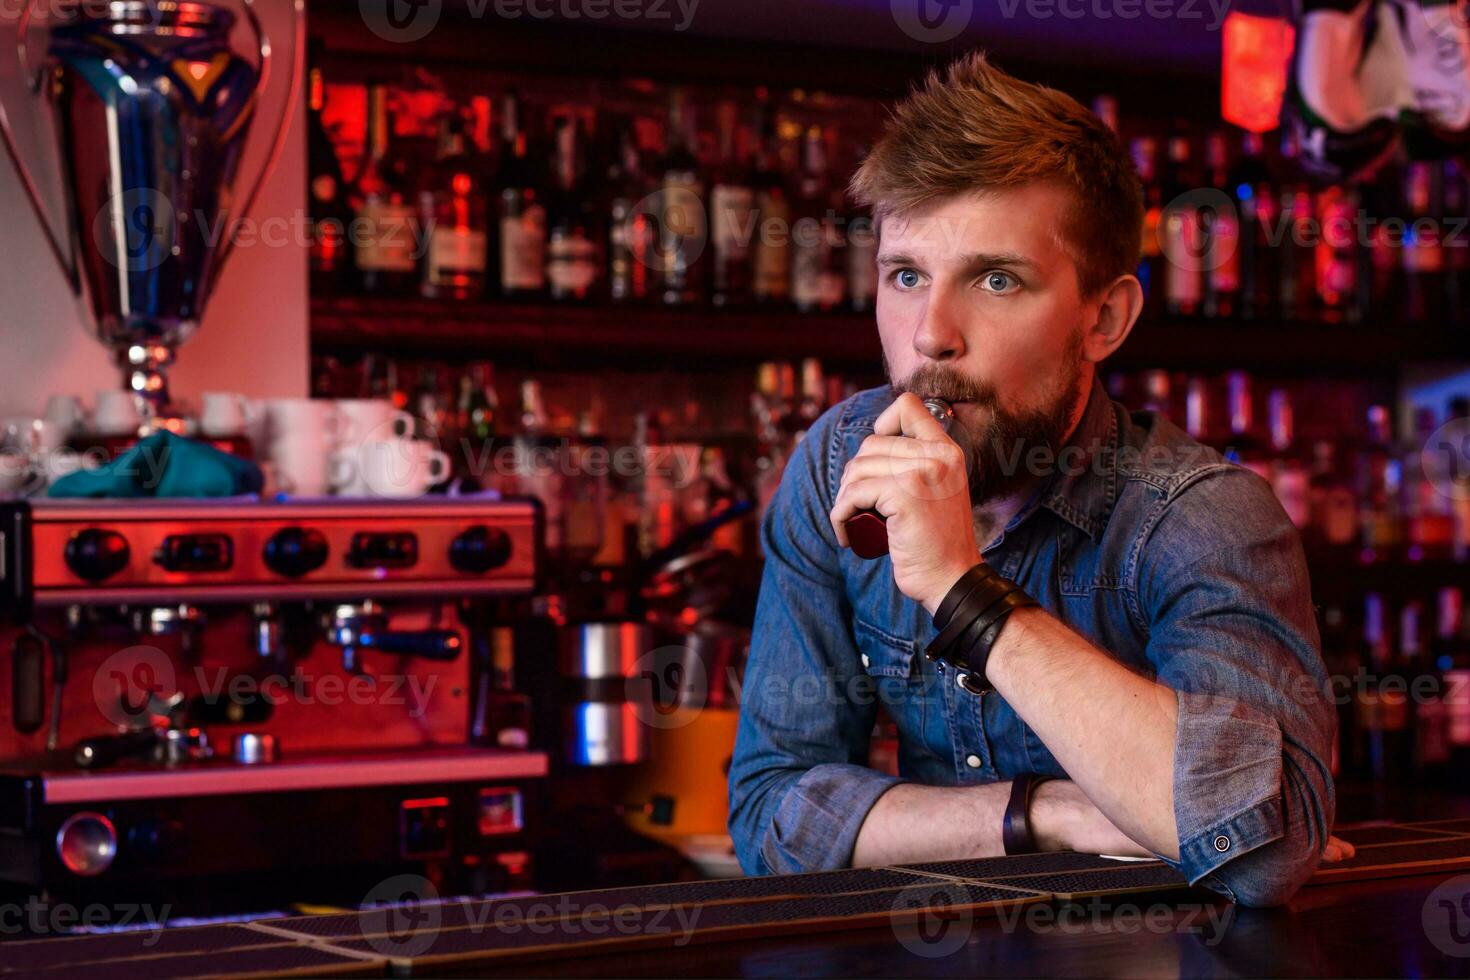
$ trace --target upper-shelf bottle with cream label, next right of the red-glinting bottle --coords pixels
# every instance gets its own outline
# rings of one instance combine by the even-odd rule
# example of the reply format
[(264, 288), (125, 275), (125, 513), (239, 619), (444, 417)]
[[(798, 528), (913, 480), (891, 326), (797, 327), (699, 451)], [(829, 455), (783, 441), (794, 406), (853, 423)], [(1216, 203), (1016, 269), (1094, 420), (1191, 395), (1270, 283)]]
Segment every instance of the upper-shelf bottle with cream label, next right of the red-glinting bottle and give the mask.
[(545, 194), (531, 165), (522, 103), (516, 93), (501, 100), (500, 163), (495, 170), (495, 222), (500, 237), (500, 294), (531, 297), (545, 291)]

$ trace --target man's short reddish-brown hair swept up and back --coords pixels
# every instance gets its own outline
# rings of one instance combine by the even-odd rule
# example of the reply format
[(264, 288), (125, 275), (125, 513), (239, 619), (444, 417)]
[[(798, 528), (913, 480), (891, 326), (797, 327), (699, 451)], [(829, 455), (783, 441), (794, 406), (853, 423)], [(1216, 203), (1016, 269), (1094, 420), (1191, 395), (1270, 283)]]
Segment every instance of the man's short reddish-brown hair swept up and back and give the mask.
[(1038, 181), (1072, 194), (1060, 229), (1091, 297), (1138, 269), (1144, 191), (1117, 135), (1076, 98), (1026, 82), (975, 51), (929, 72), (891, 113), (853, 175), (879, 223), (929, 201)]

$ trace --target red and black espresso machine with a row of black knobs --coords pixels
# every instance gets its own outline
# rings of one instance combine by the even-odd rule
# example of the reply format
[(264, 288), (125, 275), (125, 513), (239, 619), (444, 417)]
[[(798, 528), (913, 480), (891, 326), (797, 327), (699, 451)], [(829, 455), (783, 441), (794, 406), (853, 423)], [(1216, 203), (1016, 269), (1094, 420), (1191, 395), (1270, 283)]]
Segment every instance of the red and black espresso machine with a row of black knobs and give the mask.
[(0, 504), (0, 889), (173, 915), (531, 882), (547, 757), (492, 651), (542, 513)]

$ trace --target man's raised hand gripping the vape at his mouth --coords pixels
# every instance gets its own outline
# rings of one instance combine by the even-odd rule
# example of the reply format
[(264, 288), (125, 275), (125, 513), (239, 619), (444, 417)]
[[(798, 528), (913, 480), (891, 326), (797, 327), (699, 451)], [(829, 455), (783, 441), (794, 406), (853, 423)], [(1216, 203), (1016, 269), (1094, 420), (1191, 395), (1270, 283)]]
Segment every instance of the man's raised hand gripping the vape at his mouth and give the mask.
[(878, 416), (873, 435), (842, 472), (829, 517), (844, 548), (845, 525), (861, 510), (888, 520), (894, 583), (931, 614), (980, 561), (964, 453), (913, 392)]

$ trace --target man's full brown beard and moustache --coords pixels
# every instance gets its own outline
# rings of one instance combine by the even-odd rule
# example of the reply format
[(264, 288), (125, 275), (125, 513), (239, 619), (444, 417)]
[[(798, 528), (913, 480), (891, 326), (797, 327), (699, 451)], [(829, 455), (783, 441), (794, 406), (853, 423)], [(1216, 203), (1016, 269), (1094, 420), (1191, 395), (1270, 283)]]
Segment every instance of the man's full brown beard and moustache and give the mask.
[(1054, 461), (1070, 429), (1078, 401), (1086, 397), (1086, 392), (1079, 389), (1082, 331), (1078, 331), (1069, 342), (1057, 376), (1047, 385), (1042, 404), (1022, 411), (1003, 406), (992, 383), (967, 378), (945, 364), (925, 363), (903, 381), (892, 379), (886, 359), (883, 370), (888, 373), (888, 388), (894, 398), (910, 391), (920, 398), (944, 398), (951, 404), (966, 401), (986, 410), (985, 420), (979, 423), (967, 423), (958, 414), (954, 419), (956, 425), (964, 428), (964, 435), (975, 450), (969, 476), (970, 502), (976, 505), (1008, 497), (1033, 478), (1047, 476), (1045, 472), (1028, 467), (1028, 454), (1042, 447), (1047, 454), (1039, 458)]

